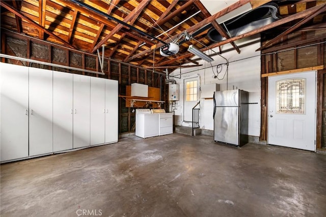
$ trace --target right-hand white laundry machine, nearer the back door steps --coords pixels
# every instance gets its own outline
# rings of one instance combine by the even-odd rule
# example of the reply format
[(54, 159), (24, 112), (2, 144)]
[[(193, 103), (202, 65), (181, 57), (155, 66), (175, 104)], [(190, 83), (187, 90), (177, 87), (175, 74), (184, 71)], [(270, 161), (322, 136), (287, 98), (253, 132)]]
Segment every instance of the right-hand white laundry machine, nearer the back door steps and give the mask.
[(173, 133), (173, 114), (165, 113), (164, 109), (152, 109), (152, 114), (158, 114), (158, 135)]

